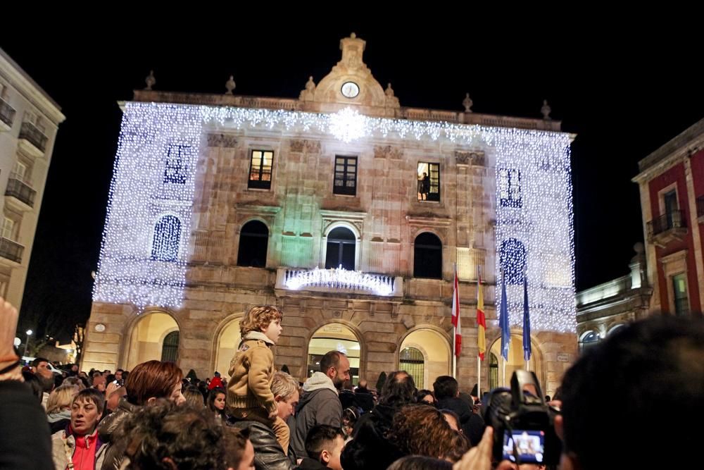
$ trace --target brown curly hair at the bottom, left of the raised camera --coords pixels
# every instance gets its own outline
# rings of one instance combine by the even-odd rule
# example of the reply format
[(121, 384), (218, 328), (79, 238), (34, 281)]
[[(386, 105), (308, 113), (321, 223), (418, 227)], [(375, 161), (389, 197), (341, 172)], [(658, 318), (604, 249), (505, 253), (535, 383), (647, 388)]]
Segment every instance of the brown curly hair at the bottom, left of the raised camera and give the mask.
[(453, 431), (445, 416), (427, 404), (410, 404), (394, 415), (389, 441), (403, 454), (457, 462), (470, 449), (464, 435)]

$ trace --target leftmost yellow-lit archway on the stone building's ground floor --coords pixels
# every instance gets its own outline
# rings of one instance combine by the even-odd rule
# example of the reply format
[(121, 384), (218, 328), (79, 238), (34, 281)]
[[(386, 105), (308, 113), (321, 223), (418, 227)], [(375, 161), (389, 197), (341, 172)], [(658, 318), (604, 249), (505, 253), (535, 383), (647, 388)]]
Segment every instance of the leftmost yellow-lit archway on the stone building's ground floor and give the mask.
[[(179, 334), (178, 323), (169, 314), (144, 314), (132, 328), (125, 369), (132, 370), (137, 364), (151, 360), (177, 361)], [(164, 353), (167, 359), (163, 359)]]

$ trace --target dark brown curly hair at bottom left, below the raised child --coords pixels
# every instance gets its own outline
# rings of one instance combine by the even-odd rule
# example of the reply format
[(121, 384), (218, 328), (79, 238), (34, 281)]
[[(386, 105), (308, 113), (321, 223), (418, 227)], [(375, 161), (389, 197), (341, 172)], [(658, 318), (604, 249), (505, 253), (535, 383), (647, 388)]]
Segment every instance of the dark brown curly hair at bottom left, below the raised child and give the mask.
[(130, 459), (127, 469), (226, 470), (225, 440), (206, 409), (160, 399), (127, 415), (112, 442)]

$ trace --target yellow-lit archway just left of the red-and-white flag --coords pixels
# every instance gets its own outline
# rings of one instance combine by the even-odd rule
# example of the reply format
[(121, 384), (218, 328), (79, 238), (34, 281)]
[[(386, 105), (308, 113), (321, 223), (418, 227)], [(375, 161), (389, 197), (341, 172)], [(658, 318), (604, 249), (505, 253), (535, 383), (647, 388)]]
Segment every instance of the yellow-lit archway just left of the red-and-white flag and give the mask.
[[(398, 369), (413, 376), (415, 386), (432, 388), (439, 376), (446, 376), (450, 371), (451, 351), (446, 338), (430, 328), (418, 328), (401, 342), (398, 354)], [(421, 354), (419, 357), (417, 351)], [(422, 364), (419, 364), (422, 360)]]

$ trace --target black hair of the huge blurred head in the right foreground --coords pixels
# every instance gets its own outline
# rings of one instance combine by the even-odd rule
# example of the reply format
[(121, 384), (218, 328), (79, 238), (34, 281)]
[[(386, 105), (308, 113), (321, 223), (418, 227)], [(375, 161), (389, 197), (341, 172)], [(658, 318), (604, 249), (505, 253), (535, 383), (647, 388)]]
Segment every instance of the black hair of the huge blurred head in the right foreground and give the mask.
[[(702, 357), (704, 321), (672, 316), (631, 323), (586, 350), (562, 380), (566, 453), (584, 470), (691, 466), (700, 439), (687, 430), (704, 416)], [(615, 406), (605, 423), (594, 397), (607, 394)], [(664, 403), (673, 407), (670, 431), (650, 439), (644, 430), (662, 421)]]

